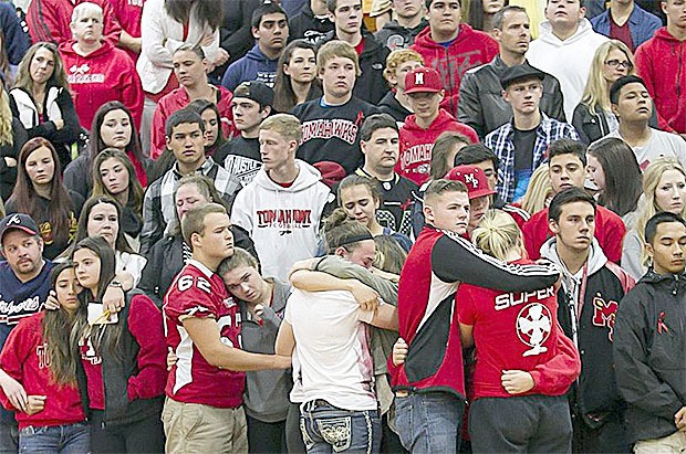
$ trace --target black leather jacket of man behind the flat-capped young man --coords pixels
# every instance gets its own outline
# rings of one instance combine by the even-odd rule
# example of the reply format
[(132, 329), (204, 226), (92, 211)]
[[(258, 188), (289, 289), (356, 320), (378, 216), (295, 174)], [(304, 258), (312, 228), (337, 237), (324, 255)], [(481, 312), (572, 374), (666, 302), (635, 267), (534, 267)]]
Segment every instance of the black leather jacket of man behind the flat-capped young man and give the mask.
[[(529, 64), (529, 63), (524, 63)], [(471, 126), (484, 139), (512, 118), (512, 107), (502, 98), (500, 76), (508, 66), (500, 55), (485, 65), (467, 71), (459, 87), (457, 119)], [(550, 118), (567, 123), (560, 82), (545, 74), (540, 108)]]

